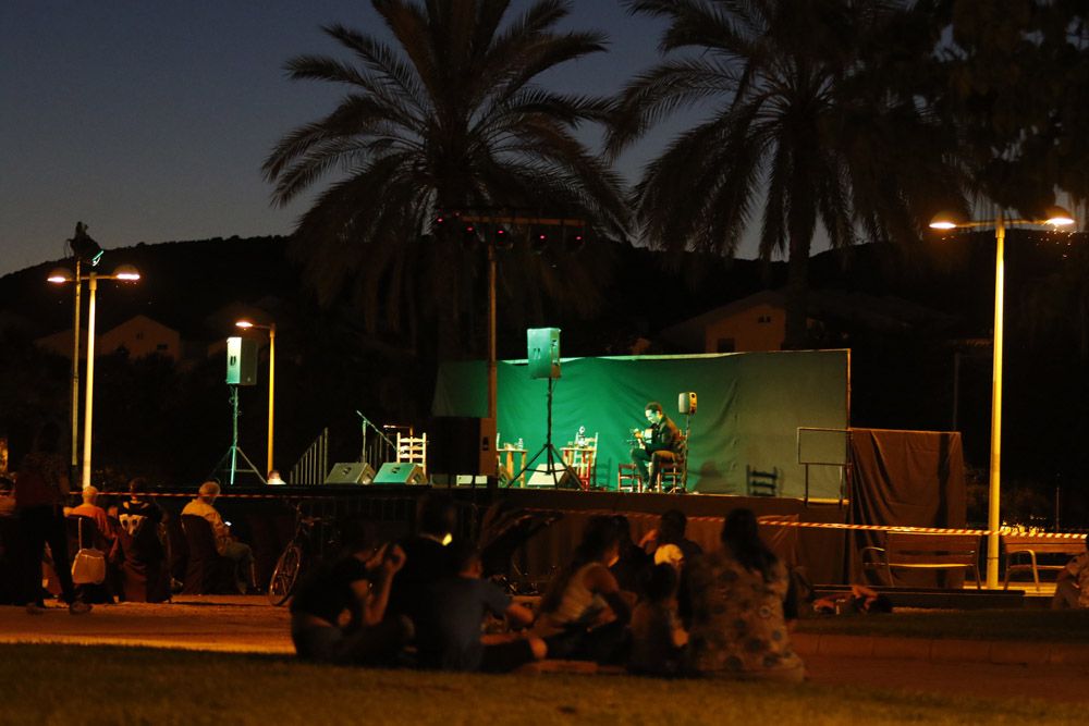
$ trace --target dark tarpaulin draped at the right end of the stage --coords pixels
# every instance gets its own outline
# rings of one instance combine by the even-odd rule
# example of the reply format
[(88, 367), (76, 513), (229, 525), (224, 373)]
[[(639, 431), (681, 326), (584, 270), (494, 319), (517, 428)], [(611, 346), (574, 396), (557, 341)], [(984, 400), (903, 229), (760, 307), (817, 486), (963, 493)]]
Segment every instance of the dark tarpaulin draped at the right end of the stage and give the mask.
[[(852, 429), (851, 457), (852, 524), (965, 526), (964, 452), (958, 432)], [(860, 557), (865, 546), (883, 546), (883, 533), (856, 531), (852, 539), (852, 580), (888, 585), (883, 571), (864, 573)], [(958, 588), (963, 583), (959, 571), (897, 569), (894, 576), (897, 586)]]

